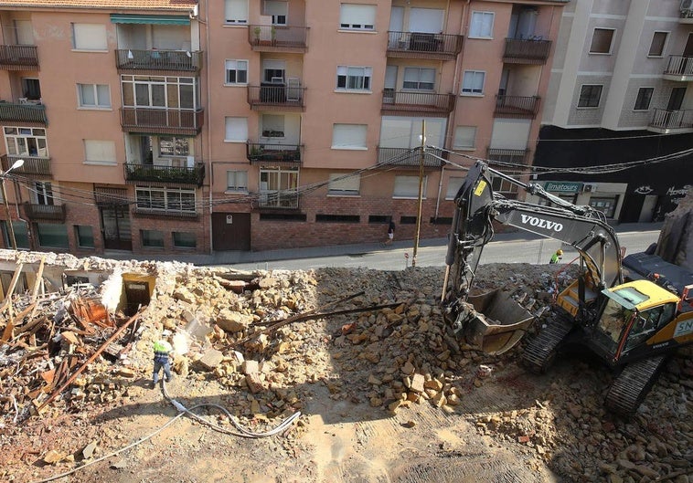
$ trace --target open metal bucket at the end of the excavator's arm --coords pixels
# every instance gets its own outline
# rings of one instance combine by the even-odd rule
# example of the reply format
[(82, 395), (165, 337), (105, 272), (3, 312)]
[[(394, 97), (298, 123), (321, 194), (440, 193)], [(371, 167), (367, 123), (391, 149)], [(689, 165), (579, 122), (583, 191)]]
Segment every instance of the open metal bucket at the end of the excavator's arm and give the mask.
[(469, 345), (489, 354), (502, 354), (511, 349), (534, 320), (534, 316), (517, 303), (510, 292), (502, 289), (470, 295), (465, 311), (464, 339)]

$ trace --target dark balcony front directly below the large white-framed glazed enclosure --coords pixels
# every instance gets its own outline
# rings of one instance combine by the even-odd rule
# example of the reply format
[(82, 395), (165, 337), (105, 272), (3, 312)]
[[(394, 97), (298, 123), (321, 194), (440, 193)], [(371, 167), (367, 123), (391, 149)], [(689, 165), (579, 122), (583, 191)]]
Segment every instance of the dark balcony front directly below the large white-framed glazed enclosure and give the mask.
[(187, 134), (197, 136), (202, 130), (204, 110), (121, 108), (121, 125), (126, 132)]

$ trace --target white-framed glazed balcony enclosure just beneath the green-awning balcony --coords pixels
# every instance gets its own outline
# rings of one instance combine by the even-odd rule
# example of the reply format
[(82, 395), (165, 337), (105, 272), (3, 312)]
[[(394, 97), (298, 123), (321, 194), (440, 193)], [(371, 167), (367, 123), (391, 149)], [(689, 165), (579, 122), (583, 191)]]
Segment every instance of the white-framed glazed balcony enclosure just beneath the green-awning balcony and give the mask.
[(123, 75), (121, 88), (126, 107), (196, 110), (200, 103), (196, 78)]

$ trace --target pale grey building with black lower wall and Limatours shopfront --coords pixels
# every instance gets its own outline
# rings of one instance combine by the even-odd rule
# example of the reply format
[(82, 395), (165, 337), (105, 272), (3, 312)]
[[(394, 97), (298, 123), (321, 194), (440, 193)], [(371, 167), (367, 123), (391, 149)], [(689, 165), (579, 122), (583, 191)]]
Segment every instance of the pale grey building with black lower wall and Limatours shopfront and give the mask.
[(691, 56), (691, 2), (571, 0), (534, 164), (591, 169), (539, 181), (615, 221), (662, 219), (693, 187)]

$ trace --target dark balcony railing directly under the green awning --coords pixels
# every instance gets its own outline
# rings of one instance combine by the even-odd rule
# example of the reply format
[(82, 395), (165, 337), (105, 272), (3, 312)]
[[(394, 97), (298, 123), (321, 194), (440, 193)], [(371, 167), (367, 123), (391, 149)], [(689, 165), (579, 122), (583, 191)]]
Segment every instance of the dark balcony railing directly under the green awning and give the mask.
[(133, 50), (115, 51), (115, 67), (122, 70), (177, 70), (198, 72), (202, 68), (202, 52), (196, 50)]

